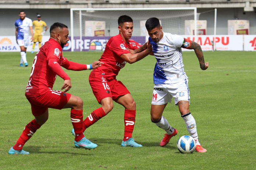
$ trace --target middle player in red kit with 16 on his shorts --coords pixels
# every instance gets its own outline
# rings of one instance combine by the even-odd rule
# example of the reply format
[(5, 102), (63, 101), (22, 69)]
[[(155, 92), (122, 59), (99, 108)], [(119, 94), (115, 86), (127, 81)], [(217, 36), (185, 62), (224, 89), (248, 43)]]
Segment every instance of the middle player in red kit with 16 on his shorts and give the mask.
[(93, 125), (93, 123), (97, 122), (100, 118), (106, 116), (113, 109), (114, 100), (125, 108), (124, 139), (121, 145), (123, 147), (142, 147), (142, 145), (136, 143), (134, 138), (132, 138), (136, 103), (124, 84), (116, 80), (116, 76), (127, 62), (132, 64), (143, 59), (152, 51), (152, 48), (150, 43), (147, 43), (144, 44), (147, 46), (147, 50), (141, 53), (131, 54), (127, 50), (127, 48), (137, 49), (141, 46), (138, 42), (129, 40), (133, 31), (133, 21), (131, 17), (127, 15), (120, 16), (118, 18), (118, 30), (119, 34), (109, 39), (105, 51), (99, 59), (104, 64), (90, 73), (90, 86), (102, 107), (94, 110), (83, 121), (83, 130)]

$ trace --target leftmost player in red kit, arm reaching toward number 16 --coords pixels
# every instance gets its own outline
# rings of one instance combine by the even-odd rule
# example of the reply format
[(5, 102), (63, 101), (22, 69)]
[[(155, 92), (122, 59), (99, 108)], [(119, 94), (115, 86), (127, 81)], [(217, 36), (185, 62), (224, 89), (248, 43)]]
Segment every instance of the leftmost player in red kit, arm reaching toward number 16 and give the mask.
[[(17, 143), (9, 150), (9, 154), (29, 154), (22, 147), (36, 130), (47, 121), (48, 108), (71, 108), (70, 117), (75, 132), (75, 146), (86, 149), (97, 147), (83, 135), (83, 101), (80, 97), (66, 93), (71, 88), (71, 80), (61, 66), (67, 70), (81, 71), (95, 69), (101, 66), (103, 62), (95, 61), (86, 65), (68, 61), (62, 55), (62, 48), (68, 41), (68, 27), (66, 25), (58, 22), (51, 25), (50, 39), (37, 52), (26, 86), (25, 96), (31, 104), (35, 119), (25, 126)], [(61, 88), (63, 92), (52, 89), (57, 75), (64, 80)]]

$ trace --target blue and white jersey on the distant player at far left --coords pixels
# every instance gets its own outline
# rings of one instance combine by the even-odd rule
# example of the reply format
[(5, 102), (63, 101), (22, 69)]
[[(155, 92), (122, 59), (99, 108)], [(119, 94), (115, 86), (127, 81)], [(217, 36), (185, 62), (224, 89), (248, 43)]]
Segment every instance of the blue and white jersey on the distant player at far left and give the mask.
[(26, 18), (22, 21), (20, 18), (15, 21), (15, 27), (18, 28), (17, 40), (24, 40), (29, 36), (29, 26), (32, 26), (32, 20)]

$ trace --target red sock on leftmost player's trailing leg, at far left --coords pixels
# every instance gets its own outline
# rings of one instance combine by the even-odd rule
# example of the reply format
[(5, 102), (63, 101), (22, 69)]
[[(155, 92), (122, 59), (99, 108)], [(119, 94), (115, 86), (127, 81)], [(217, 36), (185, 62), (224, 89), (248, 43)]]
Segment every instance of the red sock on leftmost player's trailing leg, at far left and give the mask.
[(32, 135), (40, 128), (40, 125), (34, 119), (33, 121), (29, 122), (28, 125), (25, 126), (21, 136), (19, 137), (17, 143), (13, 146), (15, 150), (21, 150), (26, 141), (28, 141)]

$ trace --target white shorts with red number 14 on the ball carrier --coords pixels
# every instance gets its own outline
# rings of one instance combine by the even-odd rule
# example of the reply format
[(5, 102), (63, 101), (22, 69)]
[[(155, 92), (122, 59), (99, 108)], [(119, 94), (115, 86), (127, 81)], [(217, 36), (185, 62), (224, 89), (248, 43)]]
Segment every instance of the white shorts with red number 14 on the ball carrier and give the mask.
[(171, 103), (173, 97), (175, 105), (181, 100), (190, 102), (188, 79), (174, 84), (155, 84), (151, 104)]

